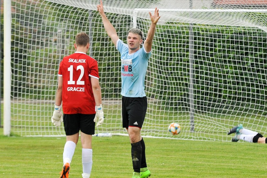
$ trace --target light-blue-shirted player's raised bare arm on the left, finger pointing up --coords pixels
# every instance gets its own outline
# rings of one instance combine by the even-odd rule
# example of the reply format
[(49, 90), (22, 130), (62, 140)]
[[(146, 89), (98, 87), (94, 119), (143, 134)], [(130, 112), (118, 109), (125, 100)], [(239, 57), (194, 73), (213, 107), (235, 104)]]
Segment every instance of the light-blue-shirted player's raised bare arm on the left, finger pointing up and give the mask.
[(100, 5), (97, 5), (97, 10), (98, 10), (99, 14), (101, 15), (105, 30), (107, 31), (107, 35), (111, 38), (112, 42), (116, 46), (116, 43), (117, 43), (117, 40), (119, 39), (119, 37), (117, 35), (115, 28), (107, 19), (107, 16), (104, 12), (102, 0), (100, 0)]

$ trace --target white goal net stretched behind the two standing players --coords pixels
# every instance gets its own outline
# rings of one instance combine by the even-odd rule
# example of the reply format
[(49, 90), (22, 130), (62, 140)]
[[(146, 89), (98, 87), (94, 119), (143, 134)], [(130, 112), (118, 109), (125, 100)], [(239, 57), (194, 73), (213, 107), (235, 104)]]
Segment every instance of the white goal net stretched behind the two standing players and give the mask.
[[(62, 58), (86, 32), (99, 65), (105, 122), (96, 133), (126, 134), (121, 122), (120, 54), (97, 11), (99, 0), (11, 0), (11, 132), (65, 135), (51, 123)], [(147, 137), (230, 141), (238, 123), (267, 133), (266, 0), (103, 0), (121, 40), (146, 36), (159, 8), (145, 80)], [(5, 104), (5, 103), (4, 103)], [(7, 118), (5, 118), (7, 119)], [(172, 122), (181, 133), (168, 132)]]

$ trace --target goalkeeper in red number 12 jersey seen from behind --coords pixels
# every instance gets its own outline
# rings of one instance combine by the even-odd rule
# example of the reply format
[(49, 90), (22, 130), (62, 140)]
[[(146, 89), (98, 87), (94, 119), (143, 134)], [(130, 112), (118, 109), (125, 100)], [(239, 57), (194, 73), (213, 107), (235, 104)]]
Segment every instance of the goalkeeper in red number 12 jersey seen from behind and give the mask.
[[(55, 109), (51, 118), (56, 127), (63, 120), (66, 143), (63, 152), (63, 169), (60, 178), (68, 178), (70, 163), (81, 131), (83, 178), (89, 178), (92, 170), (92, 135), (104, 121), (101, 88), (97, 61), (86, 55), (89, 36), (75, 36), (76, 52), (60, 62)], [(60, 111), (62, 102), (63, 113)]]

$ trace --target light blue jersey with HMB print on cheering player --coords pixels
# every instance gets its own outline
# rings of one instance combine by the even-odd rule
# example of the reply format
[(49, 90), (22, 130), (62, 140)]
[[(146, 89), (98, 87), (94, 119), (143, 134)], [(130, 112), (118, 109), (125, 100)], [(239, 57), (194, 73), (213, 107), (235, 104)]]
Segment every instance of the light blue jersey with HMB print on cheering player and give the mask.
[(129, 54), (129, 47), (122, 40), (117, 41), (116, 49), (121, 54), (122, 92), (126, 97), (144, 97), (144, 80), (151, 51), (144, 47)]

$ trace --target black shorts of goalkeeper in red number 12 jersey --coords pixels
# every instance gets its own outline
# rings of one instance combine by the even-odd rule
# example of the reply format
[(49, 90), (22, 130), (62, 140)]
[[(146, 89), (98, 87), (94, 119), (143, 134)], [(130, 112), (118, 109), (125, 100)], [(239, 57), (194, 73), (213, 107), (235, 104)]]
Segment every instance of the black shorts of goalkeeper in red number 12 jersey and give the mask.
[(95, 114), (64, 114), (63, 122), (66, 135), (81, 132), (87, 135), (95, 134)]

